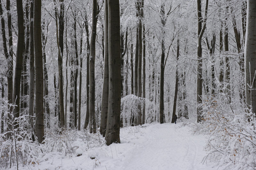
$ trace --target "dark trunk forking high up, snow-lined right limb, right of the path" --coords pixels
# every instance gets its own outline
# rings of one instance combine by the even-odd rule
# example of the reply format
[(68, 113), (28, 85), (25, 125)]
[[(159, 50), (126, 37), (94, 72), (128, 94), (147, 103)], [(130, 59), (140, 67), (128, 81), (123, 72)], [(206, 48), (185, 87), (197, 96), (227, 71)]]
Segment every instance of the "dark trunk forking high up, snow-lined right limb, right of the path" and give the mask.
[[(197, 122), (202, 121), (202, 37), (206, 27), (208, 0), (205, 4), (204, 19), (202, 17), (201, 0), (197, 0), (197, 86), (196, 86), (196, 112)], [(203, 24), (203, 26), (202, 26)]]

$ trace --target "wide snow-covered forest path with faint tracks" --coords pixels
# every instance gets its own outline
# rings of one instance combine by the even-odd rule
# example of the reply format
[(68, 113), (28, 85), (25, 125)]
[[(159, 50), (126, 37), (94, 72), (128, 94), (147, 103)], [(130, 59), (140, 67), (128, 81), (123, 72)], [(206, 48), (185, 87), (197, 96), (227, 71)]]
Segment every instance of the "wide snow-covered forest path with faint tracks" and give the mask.
[[(205, 138), (191, 135), (181, 124), (155, 124), (140, 128), (143, 137), (131, 141), (133, 149), (122, 159), (124, 170), (208, 170), (201, 163)], [(128, 156), (129, 155), (129, 156)]]

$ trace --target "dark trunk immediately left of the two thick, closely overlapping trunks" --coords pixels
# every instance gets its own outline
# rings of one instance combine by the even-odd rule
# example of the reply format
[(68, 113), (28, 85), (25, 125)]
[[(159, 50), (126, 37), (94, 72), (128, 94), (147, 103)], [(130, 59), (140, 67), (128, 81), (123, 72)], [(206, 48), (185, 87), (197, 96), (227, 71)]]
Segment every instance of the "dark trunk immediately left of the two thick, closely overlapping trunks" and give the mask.
[(90, 50), (90, 61), (89, 61), (89, 82), (90, 82), (90, 93), (89, 93), (89, 124), (90, 133), (96, 133), (95, 123), (95, 41), (96, 41), (96, 29), (97, 29), (97, 0), (93, 0), (92, 7), (92, 35), (91, 35), (91, 50)]

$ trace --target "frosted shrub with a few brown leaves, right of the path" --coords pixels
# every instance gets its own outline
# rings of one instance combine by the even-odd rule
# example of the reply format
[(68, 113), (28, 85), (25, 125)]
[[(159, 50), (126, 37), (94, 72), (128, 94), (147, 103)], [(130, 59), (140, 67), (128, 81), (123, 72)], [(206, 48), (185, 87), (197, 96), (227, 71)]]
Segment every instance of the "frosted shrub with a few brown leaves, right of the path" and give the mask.
[(209, 154), (204, 161), (219, 162), (219, 166), (227, 169), (255, 169), (255, 115), (245, 113), (245, 109), (233, 110), (227, 103), (204, 101), (204, 121), (196, 128), (209, 137)]

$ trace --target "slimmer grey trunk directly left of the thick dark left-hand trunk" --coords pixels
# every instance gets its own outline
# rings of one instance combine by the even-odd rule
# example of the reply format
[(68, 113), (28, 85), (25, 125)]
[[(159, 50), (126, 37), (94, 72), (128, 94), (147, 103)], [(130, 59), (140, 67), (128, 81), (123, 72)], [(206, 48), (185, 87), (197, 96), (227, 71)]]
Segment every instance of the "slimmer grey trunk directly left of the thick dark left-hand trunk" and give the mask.
[(34, 57), (34, 0), (30, 2), (30, 19), (29, 19), (29, 98), (28, 98), (28, 115), (31, 130), (34, 127), (34, 95), (35, 95), (35, 57)]

